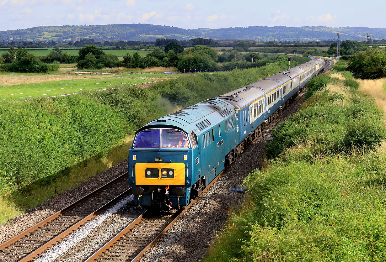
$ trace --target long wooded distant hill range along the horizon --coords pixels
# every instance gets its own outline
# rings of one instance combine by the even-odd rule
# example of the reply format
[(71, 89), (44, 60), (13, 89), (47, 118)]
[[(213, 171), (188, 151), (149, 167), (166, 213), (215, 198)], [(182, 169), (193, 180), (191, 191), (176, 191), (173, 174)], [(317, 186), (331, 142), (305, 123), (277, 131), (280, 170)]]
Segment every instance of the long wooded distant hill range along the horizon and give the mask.
[(46, 41), (71, 40), (71, 38), (92, 38), (94, 40), (156, 40), (175, 38), (187, 40), (196, 37), (212, 39), (268, 40), (328, 40), (336, 39), (340, 33), (342, 40), (386, 39), (386, 29), (368, 27), (230, 27), (220, 29), (181, 29), (165, 25), (115, 24), (115, 25), (62, 25), (39, 26), (27, 29), (0, 32), (0, 41)]

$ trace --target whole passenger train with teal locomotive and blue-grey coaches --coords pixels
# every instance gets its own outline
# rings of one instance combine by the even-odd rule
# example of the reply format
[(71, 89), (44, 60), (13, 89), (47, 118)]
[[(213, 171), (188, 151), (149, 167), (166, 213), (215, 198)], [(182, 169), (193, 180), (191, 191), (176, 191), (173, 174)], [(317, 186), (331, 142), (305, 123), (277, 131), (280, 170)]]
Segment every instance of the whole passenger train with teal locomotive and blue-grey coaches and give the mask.
[(129, 149), (134, 204), (186, 207), (324, 68), (316, 58), (142, 126)]

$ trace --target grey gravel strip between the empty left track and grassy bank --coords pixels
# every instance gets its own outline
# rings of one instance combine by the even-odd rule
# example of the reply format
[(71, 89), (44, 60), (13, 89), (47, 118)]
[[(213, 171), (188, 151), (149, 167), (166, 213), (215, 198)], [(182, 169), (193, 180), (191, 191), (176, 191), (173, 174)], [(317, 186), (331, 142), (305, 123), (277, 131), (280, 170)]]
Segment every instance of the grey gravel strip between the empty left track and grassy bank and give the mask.
[(113, 178), (127, 172), (127, 160), (109, 168), (108, 170), (86, 180), (80, 186), (64, 191), (59, 195), (52, 197), (42, 205), (34, 209), (27, 210), (25, 214), (14, 217), (12, 221), (5, 225), (0, 225), (0, 243), (14, 237), (18, 233), (32, 227), (39, 221), (58, 212), (79, 198), (96, 190), (100, 186), (108, 183)]

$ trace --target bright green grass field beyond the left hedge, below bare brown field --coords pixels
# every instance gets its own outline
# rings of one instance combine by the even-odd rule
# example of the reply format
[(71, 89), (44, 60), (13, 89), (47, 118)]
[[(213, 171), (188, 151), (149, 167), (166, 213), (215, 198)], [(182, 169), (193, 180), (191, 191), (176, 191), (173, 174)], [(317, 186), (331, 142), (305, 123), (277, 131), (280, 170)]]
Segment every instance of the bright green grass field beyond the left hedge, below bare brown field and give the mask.
[[(10, 74), (0, 74), (0, 77)], [(15, 76), (41, 76), (42, 74), (12, 74)], [(37, 97), (62, 96), (84, 91), (95, 91), (118, 87), (123, 85), (141, 84), (157, 81), (159, 78), (177, 77), (178, 74), (117, 74), (115, 76), (88, 78), (88, 79), (63, 79), (33, 84), (20, 84), (0, 86), (0, 100), (20, 101)], [(135, 79), (134, 79), (135, 78)], [(154, 79), (158, 78), (158, 79)]]

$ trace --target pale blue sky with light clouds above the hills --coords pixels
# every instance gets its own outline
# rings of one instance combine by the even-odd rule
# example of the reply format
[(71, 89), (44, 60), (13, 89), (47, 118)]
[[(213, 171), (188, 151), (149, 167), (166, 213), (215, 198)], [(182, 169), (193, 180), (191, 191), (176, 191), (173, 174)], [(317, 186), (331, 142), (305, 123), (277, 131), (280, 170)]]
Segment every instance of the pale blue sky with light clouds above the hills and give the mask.
[[(381, 1), (382, 2), (382, 1)], [(40, 25), (155, 24), (185, 29), (285, 25), (385, 28), (379, 1), (0, 0), (0, 31)], [(296, 3), (296, 4), (294, 4)]]

